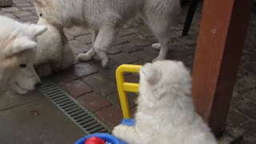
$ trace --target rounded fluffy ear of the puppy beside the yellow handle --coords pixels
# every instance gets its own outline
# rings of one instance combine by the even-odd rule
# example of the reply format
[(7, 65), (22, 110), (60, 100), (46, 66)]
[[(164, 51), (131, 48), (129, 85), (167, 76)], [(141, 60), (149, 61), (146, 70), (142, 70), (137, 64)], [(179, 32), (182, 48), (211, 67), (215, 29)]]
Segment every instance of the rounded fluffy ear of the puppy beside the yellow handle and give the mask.
[(151, 63), (146, 63), (146, 65), (142, 67), (140, 74), (143, 74), (146, 81), (152, 85), (158, 83), (162, 78), (161, 71)]

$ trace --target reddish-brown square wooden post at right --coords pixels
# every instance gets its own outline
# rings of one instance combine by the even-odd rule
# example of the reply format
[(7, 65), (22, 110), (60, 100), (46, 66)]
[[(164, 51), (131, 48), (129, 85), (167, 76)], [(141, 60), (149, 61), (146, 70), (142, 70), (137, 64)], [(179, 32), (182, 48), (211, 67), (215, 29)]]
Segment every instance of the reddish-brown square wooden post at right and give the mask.
[(205, 0), (194, 58), (192, 94), (198, 114), (225, 130), (253, 0)]

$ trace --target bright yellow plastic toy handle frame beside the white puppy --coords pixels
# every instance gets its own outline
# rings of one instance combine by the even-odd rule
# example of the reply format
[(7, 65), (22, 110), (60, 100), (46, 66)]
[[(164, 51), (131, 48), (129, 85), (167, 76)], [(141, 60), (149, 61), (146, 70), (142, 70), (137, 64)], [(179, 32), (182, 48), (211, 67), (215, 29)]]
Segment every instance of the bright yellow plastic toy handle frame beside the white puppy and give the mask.
[(118, 66), (118, 69), (115, 72), (115, 77), (117, 79), (117, 86), (118, 86), (118, 95), (121, 102), (123, 118), (130, 118), (130, 109), (129, 109), (129, 104), (126, 96), (126, 91), (138, 92), (138, 87), (139, 87), (138, 83), (125, 82), (123, 74), (125, 72), (138, 73), (141, 68), (142, 66), (140, 65), (123, 64), (121, 66)]

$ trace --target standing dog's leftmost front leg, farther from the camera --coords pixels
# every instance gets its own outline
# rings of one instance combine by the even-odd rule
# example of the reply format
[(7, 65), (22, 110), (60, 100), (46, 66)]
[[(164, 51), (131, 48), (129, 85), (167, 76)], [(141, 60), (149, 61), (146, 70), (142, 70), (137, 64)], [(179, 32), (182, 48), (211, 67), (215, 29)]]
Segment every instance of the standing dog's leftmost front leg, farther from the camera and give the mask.
[(95, 56), (95, 50), (94, 50), (94, 42), (98, 35), (98, 30), (93, 31), (93, 37), (92, 37), (92, 47), (86, 54), (78, 54), (78, 59), (80, 61), (89, 61), (90, 59), (94, 58)]

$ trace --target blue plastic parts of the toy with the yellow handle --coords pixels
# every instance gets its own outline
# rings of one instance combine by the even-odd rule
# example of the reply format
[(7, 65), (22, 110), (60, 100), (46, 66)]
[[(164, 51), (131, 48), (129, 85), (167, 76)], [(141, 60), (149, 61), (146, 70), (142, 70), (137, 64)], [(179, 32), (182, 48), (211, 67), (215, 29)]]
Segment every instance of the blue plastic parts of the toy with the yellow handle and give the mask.
[[(127, 126), (134, 126), (135, 120), (132, 118), (124, 118), (124, 119), (122, 119), (121, 124), (127, 125)], [(91, 137), (102, 138), (107, 144), (127, 144), (126, 142), (123, 142), (123, 141), (119, 140), (118, 138), (116, 138), (114, 135), (105, 134), (105, 133), (89, 134), (84, 138), (80, 138), (74, 144), (84, 144), (86, 142), (86, 140)]]

